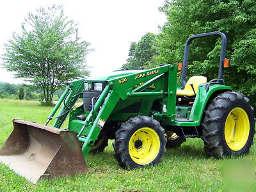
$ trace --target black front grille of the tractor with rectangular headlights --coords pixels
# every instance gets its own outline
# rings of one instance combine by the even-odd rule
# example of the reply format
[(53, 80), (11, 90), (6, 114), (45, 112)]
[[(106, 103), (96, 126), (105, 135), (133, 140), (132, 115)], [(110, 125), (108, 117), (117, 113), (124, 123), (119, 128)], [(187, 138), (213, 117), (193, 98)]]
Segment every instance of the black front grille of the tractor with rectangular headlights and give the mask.
[[(102, 84), (101, 90), (99, 89), (99, 84)], [(104, 90), (106, 83), (104, 82), (92, 82), (92, 81), (85, 81), (84, 82), (84, 91), (83, 91), (83, 102), (84, 102), (84, 111), (91, 111), (92, 110), (92, 98), (100, 96), (102, 91)], [(96, 89), (96, 90), (95, 90)], [(95, 104), (95, 100), (94, 100)]]

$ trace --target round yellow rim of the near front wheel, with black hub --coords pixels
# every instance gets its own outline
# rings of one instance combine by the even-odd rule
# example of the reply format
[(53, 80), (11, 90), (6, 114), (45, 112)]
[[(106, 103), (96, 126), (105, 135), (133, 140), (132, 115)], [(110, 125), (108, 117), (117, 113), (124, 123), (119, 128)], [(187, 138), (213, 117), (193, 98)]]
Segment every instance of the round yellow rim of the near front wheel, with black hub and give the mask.
[(143, 127), (132, 134), (129, 141), (129, 154), (137, 164), (152, 162), (160, 149), (159, 137), (153, 129)]

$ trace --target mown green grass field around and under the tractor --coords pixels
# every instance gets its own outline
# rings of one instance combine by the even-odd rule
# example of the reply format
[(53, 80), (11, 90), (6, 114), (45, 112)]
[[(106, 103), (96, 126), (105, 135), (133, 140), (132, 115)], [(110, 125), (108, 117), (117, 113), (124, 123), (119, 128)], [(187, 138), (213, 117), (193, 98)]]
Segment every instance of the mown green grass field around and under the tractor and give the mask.
[[(12, 132), (13, 118), (44, 124), (51, 109), (38, 102), (0, 99), (0, 147)], [(215, 160), (204, 152), (202, 140), (187, 139), (181, 147), (168, 149), (157, 166), (128, 171), (113, 157), (112, 142), (104, 153), (88, 155), (86, 175), (40, 180), (36, 185), (0, 164), (0, 191), (223, 191), (224, 166), (234, 161)], [(243, 159), (255, 169), (256, 144)]]

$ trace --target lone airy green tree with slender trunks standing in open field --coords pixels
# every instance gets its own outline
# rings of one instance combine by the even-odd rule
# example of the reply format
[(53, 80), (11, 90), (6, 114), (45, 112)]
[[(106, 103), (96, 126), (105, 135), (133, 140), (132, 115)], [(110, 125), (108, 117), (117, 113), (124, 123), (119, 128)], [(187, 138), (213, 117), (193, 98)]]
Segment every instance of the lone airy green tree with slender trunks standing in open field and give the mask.
[(39, 8), (29, 13), (22, 34), (13, 33), (5, 44), (4, 67), (42, 90), (45, 104), (68, 81), (88, 75), (85, 64), (88, 42), (78, 37), (77, 25), (68, 20), (62, 6)]

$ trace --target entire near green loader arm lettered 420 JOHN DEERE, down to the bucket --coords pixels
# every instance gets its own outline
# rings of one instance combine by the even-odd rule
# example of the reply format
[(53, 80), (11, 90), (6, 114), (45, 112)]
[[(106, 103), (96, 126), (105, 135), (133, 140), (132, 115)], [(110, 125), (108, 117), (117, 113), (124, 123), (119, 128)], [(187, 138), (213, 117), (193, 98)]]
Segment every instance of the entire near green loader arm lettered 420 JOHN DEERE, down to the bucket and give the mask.
[[(177, 66), (165, 65), (163, 67), (143, 70), (127, 76), (117, 77), (106, 81), (107, 86), (104, 88), (99, 99), (88, 114), (86, 120), (76, 121), (76, 126), (81, 127), (77, 134), (77, 138), (83, 144), (82, 152), (84, 158), (92, 148), (99, 133), (107, 122), (118, 100), (128, 99), (128, 97), (163, 95), (168, 99), (163, 99), (165, 105), (163, 116), (173, 120), (175, 117), (175, 99), (176, 99), (176, 74)], [(150, 86), (158, 78), (163, 78), (165, 81), (164, 88), (156, 92), (142, 92)], [(144, 82), (140, 87), (132, 90), (136, 84)], [(99, 111), (99, 112), (97, 112)], [(79, 125), (80, 124), (80, 125)]]

